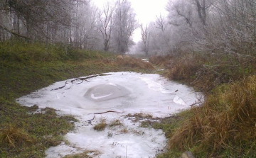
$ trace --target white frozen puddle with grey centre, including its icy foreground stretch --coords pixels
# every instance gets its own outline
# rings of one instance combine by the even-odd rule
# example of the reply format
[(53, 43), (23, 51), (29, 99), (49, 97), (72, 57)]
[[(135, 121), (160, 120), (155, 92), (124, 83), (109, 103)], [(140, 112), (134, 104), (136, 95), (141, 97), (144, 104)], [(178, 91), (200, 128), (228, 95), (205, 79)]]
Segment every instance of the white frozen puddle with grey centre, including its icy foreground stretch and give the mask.
[[(188, 108), (197, 99), (193, 89), (158, 74), (134, 72), (85, 77), (86, 80), (59, 81), (33, 94), (17, 99), (24, 106), (55, 108), (61, 115), (75, 115), (75, 131), (65, 135), (63, 142), (47, 149), (47, 157), (63, 157), (85, 150), (90, 157), (154, 157), (166, 145), (161, 130), (141, 128), (128, 114), (144, 113), (166, 117)], [(65, 86), (64, 86), (65, 85)], [(146, 119), (146, 118), (145, 118)], [(102, 120), (108, 124), (103, 131), (93, 130)], [(111, 126), (114, 121), (119, 125)]]

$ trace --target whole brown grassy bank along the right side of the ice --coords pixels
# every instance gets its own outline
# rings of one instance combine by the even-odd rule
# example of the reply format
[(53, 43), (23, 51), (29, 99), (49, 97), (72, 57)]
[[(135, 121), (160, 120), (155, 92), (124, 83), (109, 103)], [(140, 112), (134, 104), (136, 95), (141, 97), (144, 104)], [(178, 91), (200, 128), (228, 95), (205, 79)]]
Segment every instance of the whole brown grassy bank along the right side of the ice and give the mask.
[(179, 157), (255, 157), (256, 64), (252, 56), (206, 55), (152, 57), (164, 75), (206, 95), (199, 107), (174, 115), (161, 128), (169, 138), (166, 153)]

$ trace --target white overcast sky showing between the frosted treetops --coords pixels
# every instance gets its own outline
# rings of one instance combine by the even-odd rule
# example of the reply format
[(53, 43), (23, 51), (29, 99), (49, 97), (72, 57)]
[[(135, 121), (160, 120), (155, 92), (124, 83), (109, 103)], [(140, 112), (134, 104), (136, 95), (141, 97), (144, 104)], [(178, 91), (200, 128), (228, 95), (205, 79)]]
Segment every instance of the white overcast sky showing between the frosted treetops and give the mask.
[[(107, 0), (92, 0), (92, 2), (102, 8)], [(109, 0), (116, 1), (116, 0)], [(146, 25), (147, 23), (154, 21), (156, 16), (166, 15), (166, 4), (169, 0), (129, 0), (132, 2), (132, 7), (137, 14), (137, 19), (139, 23)], [(134, 42), (138, 42), (140, 37), (140, 29), (134, 31)]]

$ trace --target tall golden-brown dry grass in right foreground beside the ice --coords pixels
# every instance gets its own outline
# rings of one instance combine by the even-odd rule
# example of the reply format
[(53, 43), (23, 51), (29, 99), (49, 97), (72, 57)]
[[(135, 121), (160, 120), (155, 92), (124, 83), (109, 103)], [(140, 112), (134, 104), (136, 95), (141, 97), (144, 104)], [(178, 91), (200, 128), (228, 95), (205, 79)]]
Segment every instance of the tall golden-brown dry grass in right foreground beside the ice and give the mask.
[[(256, 155), (256, 76), (223, 85), (203, 106), (192, 108), (180, 128), (171, 133), (169, 147), (193, 149), (206, 157)], [(253, 156), (254, 155), (254, 156)]]

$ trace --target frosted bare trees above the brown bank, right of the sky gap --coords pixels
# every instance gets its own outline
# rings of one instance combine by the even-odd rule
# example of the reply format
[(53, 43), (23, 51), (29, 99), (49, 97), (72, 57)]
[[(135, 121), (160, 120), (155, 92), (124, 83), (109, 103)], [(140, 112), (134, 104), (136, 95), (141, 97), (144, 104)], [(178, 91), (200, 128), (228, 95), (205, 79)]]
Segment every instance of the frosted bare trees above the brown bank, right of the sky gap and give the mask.
[[(201, 51), (244, 61), (255, 55), (255, 1), (169, 0), (166, 9), (168, 18), (149, 25), (149, 54)], [(137, 49), (142, 45), (143, 39)]]

